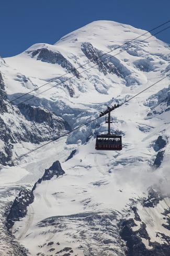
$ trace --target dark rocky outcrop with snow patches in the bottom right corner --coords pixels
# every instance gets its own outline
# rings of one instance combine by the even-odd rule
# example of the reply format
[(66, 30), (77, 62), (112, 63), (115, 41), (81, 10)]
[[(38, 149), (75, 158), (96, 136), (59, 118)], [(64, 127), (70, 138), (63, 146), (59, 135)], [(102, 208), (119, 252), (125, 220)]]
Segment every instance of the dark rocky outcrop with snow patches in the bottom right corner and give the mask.
[[(165, 204), (163, 204), (163, 200)], [(166, 200), (168, 201), (168, 198)], [(159, 232), (160, 229), (162, 230), (161, 226), (170, 230), (170, 211), (166, 200), (160, 191), (151, 187), (148, 191), (148, 197), (138, 202), (138, 204), (142, 204), (142, 210), (138, 210), (137, 206), (133, 206), (131, 211), (133, 211), (134, 217), (120, 221), (120, 236), (126, 241), (127, 256), (170, 255), (169, 236), (166, 235), (166, 232)], [(164, 211), (163, 205), (165, 205)], [(144, 212), (147, 215), (143, 218)], [(132, 216), (132, 214), (129, 216)], [(158, 221), (157, 216), (159, 216), (160, 221)], [(143, 222), (142, 219), (145, 221)], [(150, 229), (153, 230), (150, 231)], [(150, 233), (155, 233), (155, 241)]]

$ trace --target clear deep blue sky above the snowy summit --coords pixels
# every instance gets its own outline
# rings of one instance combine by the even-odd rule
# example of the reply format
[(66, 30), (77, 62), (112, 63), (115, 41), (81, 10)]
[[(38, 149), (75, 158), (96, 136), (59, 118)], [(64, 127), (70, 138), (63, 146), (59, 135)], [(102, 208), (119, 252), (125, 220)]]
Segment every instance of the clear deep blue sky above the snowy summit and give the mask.
[[(94, 20), (114, 20), (150, 30), (170, 19), (169, 0), (1, 0), (0, 55), (14, 56), (32, 44), (54, 44)], [(170, 43), (170, 29), (157, 35)]]

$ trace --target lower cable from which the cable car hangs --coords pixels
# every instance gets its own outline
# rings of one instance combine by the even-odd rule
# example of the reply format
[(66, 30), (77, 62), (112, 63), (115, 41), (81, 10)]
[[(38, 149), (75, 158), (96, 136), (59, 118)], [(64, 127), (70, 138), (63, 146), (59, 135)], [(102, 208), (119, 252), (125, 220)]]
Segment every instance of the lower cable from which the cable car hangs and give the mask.
[[(157, 84), (158, 82), (160, 82), (160, 81), (164, 80), (166, 77), (169, 77), (169, 76), (170, 76), (170, 74), (166, 75), (166, 76), (165, 76), (165, 77), (163, 77), (162, 79), (160, 79), (160, 80), (158, 80), (157, 82), (155, 82), (155, 83), (151, 84), (151, 86), (149, 86), (149, 87), (145, 88), (144, 90), (142, 90), (142, 91), (140, 91), (139, 93), (135, 94), (135, 95), (134, 95), (133, 97), (131, 97), (130, 99), (128, 99), (128, 100), (126, 100), (126, 101), (124, 101), (123, 103), (121, 103), (121, 104), (119, 105), (119, 108), (120, 108), (120, 106), (122, 106), (123, 104), (125, 104), (125, 103), (129, 102), (130, 100), (134, 99), (135, 97), (137, 97), (137, 96), (138, 96), (139, 94), (141, 94), (142, 92), (144, 92), (144, 91), (146, 91), (146, 90), (150, 89), (151, 87), (155, 86), (155, 84)], [(113, 111), (113, 110), (110, 110), (110, 112), (111, 112), (111, 111)], [(106, 113), (106, 114), (107, 114), (107, 113)], [(104, 115), (106, 115), (106, 114), (104, 114)], [(104, 115), (103, 115), (103, 116), (104, 116)], [(66, 133), (64, 133), (63, 135), (60, 135), (60, 136), (58, 136), (58, 137), (53, 138), (53, 140), (48, 141), (48, 142), (46, 142), (46, 143), (44, 143), (44, 144), (42, 144), (42, 145), (40, 145), (40, 146), (38, 146), (38, 147), (34, 148), (33, 150), (30, 150), (30, 151), (28, 151), (27, 153), (22, 154), (22, 155), (20, 155), (20, 156), (18, 156), (18, 157), (16, 157), (16, 158), (14, 158), (14, 159), (12, 159), (12, 160), (8, 161), (6, 164), (4, 164), (4, 165), (3, 165), (3, 164), (2, 164), (2, 165), (0, 165), (0, 168), (2, 168), (2, 167), (4, 167), (4, 166), (6, 166), (6, 165), (8, 165), (8, 164), (12, 164), (13, 162), (15, 162), (15, 161), (19, 160), (20, 158), (25, 157), (25, 156), (29, 155), (30, 153), (35, 152), (35, 151), (39, 150), (39, 148), (44, 147), (44, 146), (46, 146), (46, 145), (50, 144), (51, 142), (54, 142), (54, 141), (56, 141), (56, 140), (59, 140), (59, 138), (62, 138), (62, 137), (64, 137), (64, 136), (69, 135), (70, 133), (72, 133), (72, 132), (74, 132), (74, 131), (76, 131), (76, 130), (80, 129), (81, 127), (86, 126), (86, 125), (88, 125), (89, 123), (92, 123), (92, 122), (94, 122), (94, 121), (98, 120), (100, 117), (101, 117), (101, 116), (98, 116), (98, 117), (97, 117), (97, 118), (95, 118), (95, 119), (92, 119), (92, 120), (90, 120), (90, 121), (88, 121), (88, 122), (86, 122), (86, 123), (84, 123), (84, 124), (82, 124), (82, 125), (80, 125), (80, 126), (77, 126), (75, 129), (73, 129), (73, 130), (71, 130), (71, 131), (69, 131), (69, 132), (66, 132)]]

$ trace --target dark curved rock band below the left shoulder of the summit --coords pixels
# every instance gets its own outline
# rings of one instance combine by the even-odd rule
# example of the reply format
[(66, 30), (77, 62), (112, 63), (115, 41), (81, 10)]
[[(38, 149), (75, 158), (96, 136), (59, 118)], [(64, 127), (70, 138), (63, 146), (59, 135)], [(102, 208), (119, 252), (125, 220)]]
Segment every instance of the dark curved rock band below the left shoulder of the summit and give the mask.
[(47, 48), (41, 48), (33, 51), (27, 51), (27, 53), (30, 54), (32, 58), (36, 56), (37, 60), (61, 65), (62, 68), (66, 68), (67, 71), (73, 73), (77, 78), (80, 78), (80, 73), (59, 51), (54, 52)]

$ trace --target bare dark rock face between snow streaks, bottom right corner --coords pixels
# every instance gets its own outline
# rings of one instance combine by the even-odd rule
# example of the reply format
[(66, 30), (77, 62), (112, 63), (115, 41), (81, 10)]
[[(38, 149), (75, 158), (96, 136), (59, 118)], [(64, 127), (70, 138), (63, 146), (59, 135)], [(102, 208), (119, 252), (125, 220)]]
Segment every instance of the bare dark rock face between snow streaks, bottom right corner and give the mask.
[[(163, 200), (163, 197), (159, 195), (156, 191), (153, 189), (150, 189), (148, 199), (143, 201), (143, 209), (157, 211), (157, 206), (160, 204), (160, 201)], [(135, 210), (134, 210), (135, 209)], [(142, 221), (142, 216), (140, 216), (138, 212), (138, 208), (132, 208), (132, 211), (134, 212), (134, 218), (130, 218), (127, 220), (120, 221), (120, 236), (121, 238), (126, 241), (127, 256), (168, 256), (170, 255), (170, 248), (169, 248), (169, 236), (166, 236), (165, 234), (158, 231), (158, 220), (156, 220), (157, 227), (155, 228), (154, 225), (152, 225), (152, 229), (156, 233), (157, 238), (161, 238), (162, 242), (154, 242), (152, 241), (152, 238), (150, 237), (150, 234), (148, 233), (148, 229), (146, 225), (148, 225), (148, 222), (144, 223)], [(146, 210), (147, 211), (147, 210)], [(163, 223), (162, 226), (165, 227), (167, 230), (170, 229), (170, 222), (169, 222), (169, 209), (164, 210), (162, 212), (161, 209), (161, 215), (162, 218), (166, 220), (166, 225)], [(149, 215), (149, 213), (148, 213)], [(140, 218), (141, 217), (141, 218)], [(154, 217), (153, 217), (154, 218)], [(155, 221), (155, 220), (154, 220)], [(153, 231), (152, 230), (152, 231)]]

